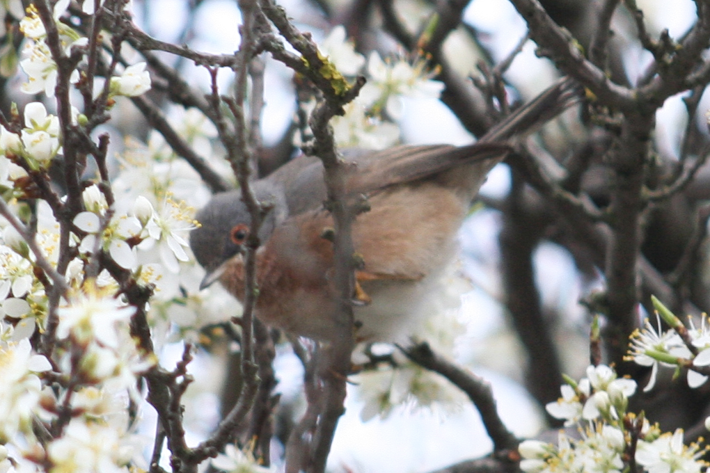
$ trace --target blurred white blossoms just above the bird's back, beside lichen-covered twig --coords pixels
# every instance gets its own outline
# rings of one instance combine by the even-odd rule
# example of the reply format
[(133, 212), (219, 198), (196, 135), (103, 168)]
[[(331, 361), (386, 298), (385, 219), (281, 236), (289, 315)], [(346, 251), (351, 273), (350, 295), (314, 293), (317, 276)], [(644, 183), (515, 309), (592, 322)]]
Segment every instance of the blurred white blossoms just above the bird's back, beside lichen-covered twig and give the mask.
[[(434, 72), (426, 62), (412, 64), (405, 58), (383, 60), (378, 52), (366, 59), (346, 40), (345, 28), (336, 26), (320, 45), (324, 57), (346, 77), (365, 74), (367, 83), (359, 96), (345, 106), (344, 116), (330, 122), (335, 142), (340, 147), (382, 150), (395, 145), (400, 138), (396, 122), (403, 118), (404, 99), (438, 99), (444, 84), (432, 80)], [(308, 111), (315, 102), (307, 105)]]

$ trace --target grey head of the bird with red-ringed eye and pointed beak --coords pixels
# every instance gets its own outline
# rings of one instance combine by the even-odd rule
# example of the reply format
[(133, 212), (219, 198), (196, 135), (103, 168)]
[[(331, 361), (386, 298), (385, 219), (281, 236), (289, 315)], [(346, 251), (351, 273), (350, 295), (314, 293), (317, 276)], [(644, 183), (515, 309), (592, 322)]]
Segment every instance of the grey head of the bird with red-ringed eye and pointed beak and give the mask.
[[(283, 193), (268, 182), (255, 182), (252, 189), (258, 201), (271, 207), (258, 231), (263, 245), (288, 211)], [(214, 195), (195, 218), (200, 227), (192, 230), (190, 247), (197, 262), (207, 271), (200, 284), (200, 289), (204, 289), (222, 276), (226, 262), (244, 252), (253, 227), (239, 189)]]

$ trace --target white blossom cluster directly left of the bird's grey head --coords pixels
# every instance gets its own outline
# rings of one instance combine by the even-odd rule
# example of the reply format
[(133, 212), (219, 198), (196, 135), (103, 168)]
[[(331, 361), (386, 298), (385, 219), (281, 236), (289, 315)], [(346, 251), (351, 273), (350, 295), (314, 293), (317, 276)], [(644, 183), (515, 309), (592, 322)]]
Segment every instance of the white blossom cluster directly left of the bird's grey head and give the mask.
[[(168, 112), (168, 121), (212, 169), (231, 176), (229, 164), (212, 144), (217, 129), (200, 111), (176, 107)], [(234, 308), (239, 304), (221, 286), (199, 289), (204, 272), (190, 253), (187, 235), (199, 225), (192, 218), (195, 208), (204, 206), (211, 194), (200, 175), (175, 155), (162, 135), (151, 131), (147, 145), (131, 139), (126, 142), (121, 169), (111, 187), (116, 199), (114, 219), (121, 215), (124, 221), (133, 221), (119, 222), (124, 228), (140, 229), (138, 238), (130, 232), (123, 234), (128, 235), (126, 241), (138, 243), (133, 247), (134, 272), (141, 281), (155, 285), (148, 315), (156, 341), (178, 336), (195, 340), (202, 326), (238, 316)], [(107, 236), (104, 230), (104, 242)], [(121, 239), (119, 233), (116, 238)]]

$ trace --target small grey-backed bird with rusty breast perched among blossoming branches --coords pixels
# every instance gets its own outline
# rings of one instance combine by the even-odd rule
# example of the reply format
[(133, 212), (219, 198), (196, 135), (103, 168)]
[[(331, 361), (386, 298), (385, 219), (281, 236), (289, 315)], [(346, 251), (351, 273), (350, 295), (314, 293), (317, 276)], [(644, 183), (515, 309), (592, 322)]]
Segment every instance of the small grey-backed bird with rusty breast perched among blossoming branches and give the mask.
[[(391, 342), (420, 320), (422, 301), (454, 260), (457, 232), (486, 174), (520, 138), (577, 103), (581, 88), (563, 78), (491, 128), (477, 143), (399, 145), (381, 151), (343, 150), (345, 189), (365, 196), (369, 210), (352, 225), (354, 321), (358, 341)], [(332, 282), (333, 227), (318, 157), (300, 155), (251, 184), (268, 203), (258, 230), (258, 297), (254, 315), (266, 325), (317, 341), (334, 339), (339, 304)], [(244, 243), (251, 216), (239, 189), (215, 194), (195, 216), (190, 247), (207, 274), (244, 301)]]

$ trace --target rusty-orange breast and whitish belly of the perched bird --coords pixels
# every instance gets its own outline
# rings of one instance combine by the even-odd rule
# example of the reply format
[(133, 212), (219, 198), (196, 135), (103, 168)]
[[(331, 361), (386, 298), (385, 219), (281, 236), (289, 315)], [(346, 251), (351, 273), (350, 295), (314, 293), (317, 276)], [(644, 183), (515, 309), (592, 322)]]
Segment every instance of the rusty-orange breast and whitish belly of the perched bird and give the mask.
[[(404, 341), (432, 315), (442, 274), (457, 248), (466, 203), (450, 189), (422, 183), (371, 198), (371, 211), (354, 221), (354, 249), (364, 260), (359, 281), (371, 299), (355, 306), (358, 340)], [(297, 335), (332, 340), (337, 329), (337, 289), (332, 282), (332, 226), (325, 211), (296, 216), (275, 230), (278, 250), (260, 265), (256, 315)], [(266, 250), (269, 250), (268, 243)]]

